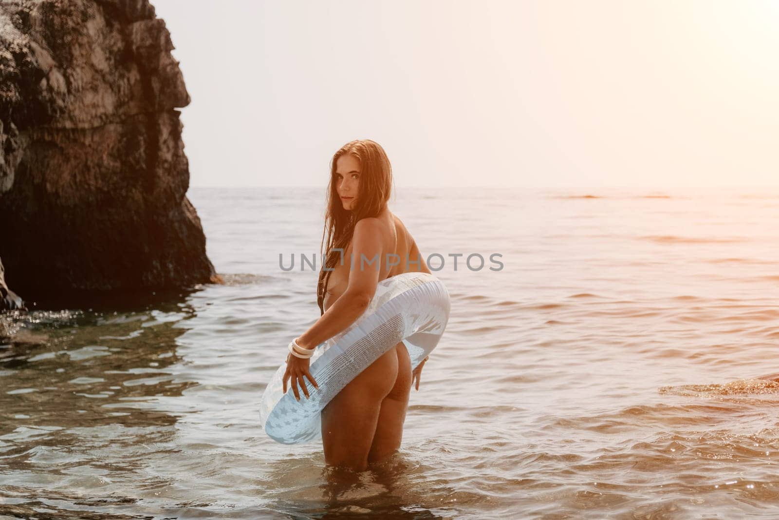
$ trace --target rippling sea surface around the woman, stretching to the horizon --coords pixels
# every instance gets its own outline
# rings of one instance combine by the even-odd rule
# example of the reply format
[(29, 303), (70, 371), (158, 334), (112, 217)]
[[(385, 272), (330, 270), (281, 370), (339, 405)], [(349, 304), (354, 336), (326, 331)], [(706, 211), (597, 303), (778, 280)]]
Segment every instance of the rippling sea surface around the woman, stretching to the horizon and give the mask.
[(777, 517), (779, 190), (400, 189), (452, 312), (348, 489), (257, 412), (324, 189), (189, 197), (225, 285), (3, 318), (0, 517)]

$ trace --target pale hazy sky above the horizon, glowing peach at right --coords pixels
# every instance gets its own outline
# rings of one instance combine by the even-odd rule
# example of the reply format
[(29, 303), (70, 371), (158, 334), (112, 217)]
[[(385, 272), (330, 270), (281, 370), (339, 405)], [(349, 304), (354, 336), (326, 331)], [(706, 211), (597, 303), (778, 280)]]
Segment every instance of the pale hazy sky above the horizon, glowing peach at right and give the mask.
[(779, 186), (773, 0), (151, 0), (191, 186)]

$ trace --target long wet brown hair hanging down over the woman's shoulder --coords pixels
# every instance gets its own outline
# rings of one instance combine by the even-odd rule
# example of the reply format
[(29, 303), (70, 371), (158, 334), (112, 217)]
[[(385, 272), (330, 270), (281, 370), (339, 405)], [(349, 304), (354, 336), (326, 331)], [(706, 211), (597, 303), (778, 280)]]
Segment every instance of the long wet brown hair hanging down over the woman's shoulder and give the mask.
[[(354, 156), (360, 162), (360, 186), (357, 205), (353, 210), (344, 210), (337, 191), (337, 162), (339, 157), (346, 154)], [(316, 286), (316, 303), (319, 305), (320, 314), (325, 313), (325, 292), (333, 272), (325, 271), (324, 267), (333, 268), (340, 263), (354, 235), (354, 226), (363, 218), (376, 217), (381, 213), (390, 200), (392, 185), (392, 165), (379, 143), (369, 139), (354, 140), (344, 144), (333, 155), (330, 162), (330, 182), (327, 185), (327, 210), (320, 256), (325, 261), (323, 268), (319, 270), (319, 283)], [(347, 261), (349, 260), (344, 256), (344, 262)]]

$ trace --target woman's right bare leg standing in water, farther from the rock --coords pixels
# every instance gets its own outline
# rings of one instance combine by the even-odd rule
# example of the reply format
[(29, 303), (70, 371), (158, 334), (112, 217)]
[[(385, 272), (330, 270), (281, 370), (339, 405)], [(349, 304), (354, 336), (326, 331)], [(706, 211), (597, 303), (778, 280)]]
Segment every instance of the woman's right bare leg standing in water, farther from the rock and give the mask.
[(411, 358), (403, 341), (393, 348), (397, 352), (397, 379), (382, 401), (379, 420), (373, 436), (368, 462), (379, 462), (400, 448), (411, 394)]

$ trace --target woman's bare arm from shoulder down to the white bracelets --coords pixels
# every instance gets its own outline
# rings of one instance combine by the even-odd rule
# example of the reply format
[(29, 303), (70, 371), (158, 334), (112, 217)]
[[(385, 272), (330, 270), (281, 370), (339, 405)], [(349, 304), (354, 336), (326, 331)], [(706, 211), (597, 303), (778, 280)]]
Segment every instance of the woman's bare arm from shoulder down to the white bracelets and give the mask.
[[(315, 348), (343, 332), (365, 312), (379, 285), (382, 240), (379, 220), (363, 218), (354, 226), (352, 264), (344, 294), (298, 338), (303, 348)], [(362, 259), (362, 260), (361, 260)]]

